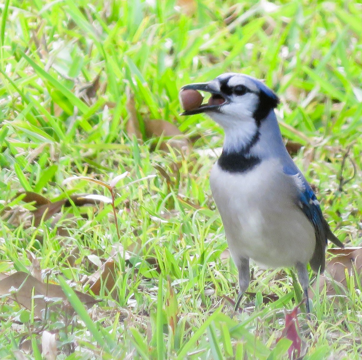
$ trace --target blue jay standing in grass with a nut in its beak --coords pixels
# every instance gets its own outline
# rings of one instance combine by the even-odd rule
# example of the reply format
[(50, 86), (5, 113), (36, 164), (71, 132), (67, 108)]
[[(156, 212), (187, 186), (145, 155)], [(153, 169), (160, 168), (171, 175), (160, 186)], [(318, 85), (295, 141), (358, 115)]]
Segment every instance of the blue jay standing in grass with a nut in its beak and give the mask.
[(235, 309), (249, 286), (253, 259), (271, 268), (295, 267), (310, 313), (307, 264), (323, 272), (327, 239), (339, 247), (343, 244), (284, 146), (274, 112), (277, 95), (261, 81), (235, 73), (186, 85), (185, 90), (188, 96), (191, 90), (191, 97), (192, 91), (211, 97), (207, 104), (196, 100), (192, 108), (184, 106), (182, 115), (206, 113), (225, 132), (210, 185), (239, 271)]

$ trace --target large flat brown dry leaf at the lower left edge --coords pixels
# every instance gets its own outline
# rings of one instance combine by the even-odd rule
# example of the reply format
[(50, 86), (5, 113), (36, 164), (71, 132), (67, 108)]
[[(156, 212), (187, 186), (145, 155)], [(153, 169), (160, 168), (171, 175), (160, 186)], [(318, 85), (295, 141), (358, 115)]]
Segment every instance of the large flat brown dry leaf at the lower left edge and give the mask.
[[(33, 288), (34, 298), (31, 297)], [(77, 290), (74, 290), (74, 292), (86, 306), (90, 307), (98, 302), (88, 294), (83, 294)], [(60, 311), (62, 307), (64, 309), (64, 305), (68, 304), (67, 296), (59, 285), (45, 284), (22, 271), (0, 280), (0, 295), (8, 295), (9, 298), (29, 310), (32, 301), (34, 301), (34, 315), (40, 319), (43, 318), (46, 307), (48, 311)], [(59, 304), (58, 300), (62, 301), (62, 303)]]

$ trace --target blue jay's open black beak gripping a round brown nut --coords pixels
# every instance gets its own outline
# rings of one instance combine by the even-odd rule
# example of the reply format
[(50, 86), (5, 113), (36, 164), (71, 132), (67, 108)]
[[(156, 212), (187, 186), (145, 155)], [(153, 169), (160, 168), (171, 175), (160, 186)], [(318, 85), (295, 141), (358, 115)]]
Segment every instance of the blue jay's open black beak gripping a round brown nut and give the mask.
[[(202, 91), (202, 92), (208, 92), (211, 94), (211, 97), (209, 101), (206, 104), (201, 104), (201, 101), (198, 105), (196, 105), (195, 108), (186, 109), (181, 115), (194, 115), (194, 114), (200, 114), (205, 113), (209, 111), (218, 111), (220, 109), (221, 105), (224, 105), (227, 102), (226, 97), (220, 92), (219, 89), (217, 89), (212, 83), (195, 83), (195, 84), (189, 84), (185, 85), (181, 88), (180, 92), (180, 99), (183, 103), (183, 107), (185, 108), (186, 104), (184, 99), (182, 98), (182, 92), (185, 90), (195, 90), (195, 91)], [(189, 103), (193, 103), (192, 96), (193, 94), (188, 94), (188, 96), (191, 96), (191, 99), (188, 99)], [(194, 94), (194, 96), (199, 96), (197, 94)], [(186, 100), (186, 99), (185, 99)], [(197, 102), (197, 101), (196, 101)]]

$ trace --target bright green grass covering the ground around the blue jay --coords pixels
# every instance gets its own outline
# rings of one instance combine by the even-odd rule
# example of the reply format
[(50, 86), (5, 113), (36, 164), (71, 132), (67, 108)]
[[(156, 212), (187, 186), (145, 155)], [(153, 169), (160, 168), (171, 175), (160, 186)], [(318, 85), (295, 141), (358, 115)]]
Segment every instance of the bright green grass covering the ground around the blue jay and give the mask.
[[(191, 14), (171, 0), (0, 6), (0, 272), (34, 271), (31, 252), (75, 309), (38, 320), (3, 297), (1, 359), (18, 359), (15, 351), (41, 359), (43, 330), (56, 333), (58, 359), (287, 358), (289, 342), (276, 340), (283, 309), (297, 302), (291, 273), (253, 266), (249, 290), (257, 295), (244, 299), (243, 313), (232, 311), (226, 299), (236, 297), (237, 271), (220, 259), (227, 243), (208, 180), (216, 158), (204, 151), (222, 146), (222, 130), (201, 115), (180, 117), (178, 101), (182, 85), (223, 72), (265, 79), (281, 98), (283, 136), (305, 146), (295, 161), (316, 185), (332, 229), (346, 246), (361, 244), (361, 4), (273, 4), (230, 10), (231, 1), (200, 0)], [(98, 74), (89, 100), (85, 86)], [(127, 88), (143, 142), (126, 131)], [(159, 150), (162, 139), (155, 147), (146, 138), (144, 119), (176, 124), (190, 151)], [(357, 176), (340, 191), (348, 148), (342, 176), (352, 175), (351, 162)], [(125, 171), (115, 198), (119, 238), (110, 204), (73, 203), (35, 227), (26, 217), (34, 204), (14, 200), (22, 190), (54, 201), (110, 197), (96, 183), (63, 180), (109, 183)], [(119, 243), (123, 250), (111, 255)], [(113, 292), (103, 279), (100, 302), (87, 311), (69, 284), (87, 292), (94, 261), (110, 256)], [(350, 281), (340, 301), (322, 291), (311, 321), (299, 315), (304, 359), (360, 359), (361, 290)], [(260, 292), (279, 300), (264, 305)]]

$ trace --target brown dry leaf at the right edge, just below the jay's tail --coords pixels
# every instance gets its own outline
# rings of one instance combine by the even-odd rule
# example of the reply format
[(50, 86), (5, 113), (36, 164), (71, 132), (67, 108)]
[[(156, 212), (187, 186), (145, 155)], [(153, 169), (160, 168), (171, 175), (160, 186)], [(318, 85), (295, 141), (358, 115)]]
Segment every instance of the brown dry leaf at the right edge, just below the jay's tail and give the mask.
[[(313, 289), (318, 287), (321, 291), (325, 285), (327, 295), (336, 295), (336, 287), (346, 289), (346, 269), (349, 276), (358, 276), (362, 281), (362, 247), (333, 248), (328, 252), (339, 254), (339, 256), (328, 261), (325, 272), (330, 276), (320, 275), (319, 281), (317, 279), (313, 284)], [(311, 296), (313, 297), (313, 293)]]

